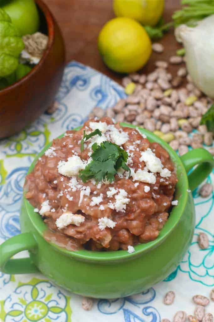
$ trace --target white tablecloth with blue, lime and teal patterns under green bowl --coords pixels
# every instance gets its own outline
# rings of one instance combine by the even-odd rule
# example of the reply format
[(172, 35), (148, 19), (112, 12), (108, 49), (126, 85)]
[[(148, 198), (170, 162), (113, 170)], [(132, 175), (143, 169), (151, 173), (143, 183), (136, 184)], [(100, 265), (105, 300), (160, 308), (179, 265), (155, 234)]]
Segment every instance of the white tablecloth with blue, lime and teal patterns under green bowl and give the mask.
[[(108, 77), (70, 62), (56, 97), (59, 108), (55, 113), (43, 114), (18, 135), (0, 141), (0, 243), (20, 233), (22, 186), (34, 156), (54, 137), (81, 125), (95, 106), (105, 109), (125, 96), (123, 88)], [(213, 173), (207, 182), (214, 182)], [(193, 314), (192, 296), (209, 297), (214, 285), (214, 193), (202, 199), (195, 190), (193, 197), (196, 207), (194, 238), (182, 262), (165, 281), (138, 295), (96, 300), (91, 311), (84, 311), (81, 296), (53, 285), (40, 274), (0, 272), (0, 320), (159, 322), (161, 318), (172, 320), (178, 310)], [(200, 232), (209, 236), (210, 246), (206, 250), (199, 249)], [(173, 305), (165, 306), (163, 297), (169, 290), (174, 290), (176, 297)], [(207, 312), (214, 313), (213, 302)]]

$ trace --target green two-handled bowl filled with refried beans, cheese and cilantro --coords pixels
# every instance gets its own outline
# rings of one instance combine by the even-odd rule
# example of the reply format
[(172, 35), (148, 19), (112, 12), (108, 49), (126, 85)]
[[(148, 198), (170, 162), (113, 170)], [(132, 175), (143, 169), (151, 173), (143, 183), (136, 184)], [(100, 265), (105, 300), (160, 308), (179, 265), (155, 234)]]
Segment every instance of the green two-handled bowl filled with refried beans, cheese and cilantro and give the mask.
[[(0, 269), (41, 271), (95, 298), (146, 290), (172, 273), (187, 251), (195, 222), (191, 190), (213, 166), (204, 149), (179, 158), (145, 129), (91, 119), (32, 163), (22, 234), (0, 245)], [(10, 259), (26, 249), (30, 258)]]

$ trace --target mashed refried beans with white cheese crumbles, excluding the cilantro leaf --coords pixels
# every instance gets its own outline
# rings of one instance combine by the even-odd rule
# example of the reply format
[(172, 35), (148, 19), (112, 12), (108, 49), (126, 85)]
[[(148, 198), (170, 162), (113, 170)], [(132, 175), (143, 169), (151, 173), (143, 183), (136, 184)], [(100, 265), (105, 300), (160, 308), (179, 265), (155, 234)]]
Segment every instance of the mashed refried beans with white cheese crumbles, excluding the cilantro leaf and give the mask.
[[(83, 131), (96, 128), (95, 135), (80, 142)], [(94, 179), (87, 183), (79, 171), (91, 161), (92, 145), (111, 141), (129, 155), (129, 172), (119, 169), (110, 184)], [(78, 131), (67, 131), (53, 140), (27, 175), (25, 197), (42, 216), (49, 229), (82, 244), (89, 250), (128, 250), (134, 245), (153, 241), (168, 218), (177, 177), (167, 151), (150, 143), (138, 129), (120, 127), (110, 118), (90, 119)]]

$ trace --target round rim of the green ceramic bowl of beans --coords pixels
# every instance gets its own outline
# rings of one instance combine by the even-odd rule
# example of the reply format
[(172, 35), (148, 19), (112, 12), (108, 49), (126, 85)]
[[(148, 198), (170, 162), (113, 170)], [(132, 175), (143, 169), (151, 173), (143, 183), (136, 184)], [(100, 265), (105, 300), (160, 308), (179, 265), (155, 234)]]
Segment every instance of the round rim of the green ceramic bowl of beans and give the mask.
[[(177, 176), (179, 177), (178, 183), (176, 184), (176, 188), (175, 188), (175, 199), (178, 200), (178, 205), (172, 208), (169, 218), (165, 223), (164, 227), (160, 230), (158, 237), (154, 241), (135, 245), (134, 246), (135, 252), (133, 253), (128, 253), (128, 251), (126, 250), (125, 251), (124, 250), (103, 251), (103, 252), (89, 251), (89, 250), (69, 251), (66, 248), (59, 247), (58, 245), (47, 241), (52, 247), (64, 253), (66, 256), (75, 258), (77, 260), (82, 260), (86, 262), (96, 262), (96, 263), (97, 262), (111, 263), (115, 261), (119, 262), (119, 261), (134, 259), (147, 251), (151, 251), (152, 249), (156, 248), (160, 243), (162, 243), (166, 239), (166, 237), (168, 237), (170, 233), (174, 230), (175, 226), (179, 223), (183, 215), (183, 212), (189, 197), (189, 192), (188, 192), (189, 183), (188, 183), (186, 170), (184, 168), (184, 165), (180, 157), (165, 141), (163, 141), (160, 137), (157, 137), (152, 132), (132, 124), (120, 123), (120, 125), (122, 127), (139, 129), (141, 133), (145, 134), (148, 137), (148, 140), (150, 142), (159, 143), (169, 153), (172, 161), (175, 164)], [(74, 130), (79, 130), (80, 128), (82, 128), (82, 126), (75, 128)], [(58, 138), (61, 138), (63, 136), (64, 134), (60, 135)], [(32, 172), (38, 158), (44, 154), (44, 152), (51, 146), (51, 144), (52, 144), (52, 141), (49, 144), (47, 144), (42, 149), (42, 151), (35, 157), (27, 174)], [(28, 214), (28, 217), (32, 225), (34, 226), (36, 231), (39, 232), (41, 237), (44, 239), (44, 232), (47, 230), (47, 225), (44, 223), (41, 216), (38, 216), (38, 215), (35, 216), (34, 207), (24, 197), (24, 194), (23, 194), (23, 200), (24, 200), (24, 206), (25, 206), (26, 212)]]

